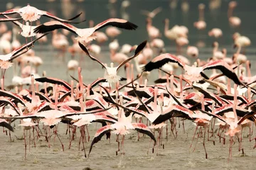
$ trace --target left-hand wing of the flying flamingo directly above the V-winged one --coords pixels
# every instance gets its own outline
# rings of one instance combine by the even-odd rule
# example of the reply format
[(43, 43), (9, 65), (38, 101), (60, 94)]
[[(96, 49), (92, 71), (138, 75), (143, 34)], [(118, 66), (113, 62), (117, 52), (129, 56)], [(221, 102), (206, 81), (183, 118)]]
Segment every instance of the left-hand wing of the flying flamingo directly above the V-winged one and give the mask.
[(60, 21), (49, 21), (46, 23), (41, 24), (40, 26), (37, 26), (36, 28), (33, 29), (34, 33), (47, 33), (56, 29), (65, 29), (69, 30), (72, 33), (76, 33), (77, 28), (75, 26), (72, 26), (68, 23), (61, 23)]

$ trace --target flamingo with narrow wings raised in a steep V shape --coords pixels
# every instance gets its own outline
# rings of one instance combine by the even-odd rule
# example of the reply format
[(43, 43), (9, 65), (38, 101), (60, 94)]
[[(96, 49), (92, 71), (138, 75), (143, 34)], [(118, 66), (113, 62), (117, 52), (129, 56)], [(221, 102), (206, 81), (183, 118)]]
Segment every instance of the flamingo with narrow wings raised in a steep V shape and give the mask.
[(129, 57), (127, 60), (124, 60), (122, 63), (119, 64), (119, 66), (117, 67), (113, 67), (114, 64), (111, 63), (110, 67), (107, 67), (105, 64), (103, 64), (102, 62), (100, 62), (100, 60), (97, 60), (97, 58), (93, 57), (92, 55), (90, 55), (90, 53), (88, 52), (87, 48), (82, 45), (80, 42), (78, 42), (80, 47), (82, 48), (82, 50), (86, 53), (86, 55), (88, 55), (92, 60), (95, 60), (96, 62), (98, 62), (99, 64), (102, 65), (102, 67), (104, 67), (106, 69), (106, 73), (107, 75), (105, 76), (105, 79), (111, 84), (111, 83), (117, 83), (117, 81), (119, 81), (121, 79), (121, 77), (117, 76), (117, 72), (118, 69), (120, 67), (122, 67), (124, 64), (126, 64), (127, 62), (129, 62), (129, 60), (132, 60), (134, 57), (137, 57), (137, 55), (139, 55), (140, 52), (142, 52), (143, 48), (146, 46), (146, 41), (142, 42), (137, 49), (134, 52), (134, 55), (132, 57)]

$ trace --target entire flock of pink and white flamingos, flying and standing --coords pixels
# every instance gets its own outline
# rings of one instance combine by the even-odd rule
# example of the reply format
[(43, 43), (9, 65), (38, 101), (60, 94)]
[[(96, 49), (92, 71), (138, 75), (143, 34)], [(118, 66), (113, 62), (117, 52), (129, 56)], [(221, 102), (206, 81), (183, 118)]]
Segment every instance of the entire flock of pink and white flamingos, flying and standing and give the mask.
[[(228, 21), (232, 27), (238, 27), (241, 23), (240, 18), (233, 16), (235, 6), (236, 2), (230, 1)], [(199, 19), (194, 23), (198, 30), (206, 29), (204, 8), (203, 4), (199, 4)], [(93, 154), (93, 146), (99, 145), (98, 142), (104, 136), (107, 140), (117, 137), (116, 154), (124, 154), (124, 137), (131, 130), (138, 132), (138, 140), (142, 137), (141, 133), (148, 136), (149, 147), (152, 152), (157, 153), (164, 131), (166, 130), (166, 137), (177, 137), (176, 128), (181, 123), (185, 130), (184, 121), (192, 121), (195, 124), (191, 147), (195, 138), (197, 141), (203, 137), (206, 159), (206, 143), (215, 145), (218, 140), (225, 144), (226, 137), (229, 137), (229, 159), (232, 157), (234, 143), (239, 145), (239, 152), (243, 153), (242, 133), (245, 133), (243, 129), (246, 127), (250, 130), (249, 140), (255, 141), (253, 148), (256, 147), (256, 138), (252, 132), (256, 123), (256, 101), (253, 98), (256, 94), (256, 79), (250, 74), (250, 61), (240, 53), (242, 48), (250, 45), (250, 39), (239, 33), (233, 35), (234, 46), (238, 48), (233, 58), (226, 56), (225, 49), (219, 51), (218, 42), (214, 42), (213, 55), (207, 61), (198, 59), (197, 47), (188, 46), (187, 56), (194, 61), (191, 66), (190, 60), (180, 55), (181, 47), (188, 45), (188, 29), (186, 26), (174, 26), (169, 29), (168, 19), (165, 20), (164, 35), (176, 42), (177, 52), (176, 55), (164, 53), (164, 42), (159, 38), (161, 32), (152, 25), (154, 16), (160, 11), (161, 8), (152, 12), (144, 11), (147, 16), (146, 30), (149, 41), (138, 42), (139, 45), (123, 45), (120, 52), (117, 52), (117, 40), (110, 43), (110, 64), (102, 63), (97, 58), (100, 55), (100, 46), (93, 45), (92, 40), (101, 44), (108, 37), (114, 39), (121, 33), (118, 28), (136, 30), (138, 26), (134, 23), (121, 18), (110, 18), (95, 26), (91, 21), (90, 28), (77, 28), (73, 24), (80, 22), (74, 20), (81, 13), (65, 20), (29, 4), (0, 13), (3, 17), (0, 22), (16, 24), (16, 32), (25, 37), (27, 42), (21, 45), (14, 39), (11, 43), (14, 50), (11, 51), (3, 45), (8, 44), (10, 34), (4, 33), (0, 40), (3, 53), (0, 55), (0, 125), (11, 140), (11, 132), (15, 131), (12, 124), (18, 120), (19, 125), (23, 127), (25, 158), (27, 143), (33, 141), (36, 146), (39, 137), (43, 137), (49, 147), (50, 140), (58, 137), (64, 151), (64, 145), (58, 135), (60, 123), (67, 125), (70, 145), (77, 133), (80, 133), (79, 144), (82, 143), (84, 151), (85, 142), (91, 143), (89, 154)], [(11, 18), (15, 14), (16, 18)], [(41, 16), (51, 18), (52, 21), (33, 26)], [(100, 32), (105, 27), (107, 35)], [(59, 29), (77, 35), (74, 45), (68, 51), (73, 55), (82, 52), (88, 56), (86, 60), (94, 60), (100, 64), (105, 70), (102, 77), (95, 77), (91, 84), (84, 84), (81, 68), (76, 60), (68, 62), (68, 69), (78, 72), (78, 79), (73, 76), (73, 80), (66, 82), (58, 78), (36, 76), (36, 68), (42, 61), (33, 56), (31, 48), (36, 41), (45, 40), (46, 35), (53, 32), (55, 45), (60, 50), (66, 49), (65, 36), (57, 33)], [(219, 28), (213, 28), (208, 35), (218, 38), (222, 32)], [(9, 86), (4, 84), (4, 74), (6, 69), (18, 67), (18, 63), (21, 76), (14, 76), (13, 89), (10, 90)], [(114, 67), (114, 64), (118, 66)], [(125, 70), (126, 77), (118, 75), (119, 69)], [(134, 69), (137, 72), (135, 76)], [(155, 84), (149, 84), (151, 72), (156, 72), (154, 69), (159, 70), (159, 79), (154, 81)], [(176, 69), (180, 69), (181, 74), (177, 74)], [(212, 73), (209, 74), (206, 70)], [(164, 74), (164, 77), (161, 74)], [(28, 89), (24, 89), (26, 85), (29, 85)], [(95, 122), (101, 123), (102, 128), (97, 129), (95, 136), (90, 140), (87, 126)], [(87, 156), (85, 152), (85, 157)]]

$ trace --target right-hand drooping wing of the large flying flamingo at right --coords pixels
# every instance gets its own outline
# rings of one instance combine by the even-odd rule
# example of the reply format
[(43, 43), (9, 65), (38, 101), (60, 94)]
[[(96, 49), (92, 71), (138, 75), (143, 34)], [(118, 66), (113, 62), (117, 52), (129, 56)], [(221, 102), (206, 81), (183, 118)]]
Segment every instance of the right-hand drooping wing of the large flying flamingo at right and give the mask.
[(210, 62), (203, 66), (204, 69), (219, 69), (223, 74), (228, 77), (229, 79), (232, 79), (235, 84), (242, 85), (240, 80), (238, 79), (237, 74), (235, 74), (233, 68), (230, 67), (226, 62), (223, 60), (217, 60), (215, 62)]

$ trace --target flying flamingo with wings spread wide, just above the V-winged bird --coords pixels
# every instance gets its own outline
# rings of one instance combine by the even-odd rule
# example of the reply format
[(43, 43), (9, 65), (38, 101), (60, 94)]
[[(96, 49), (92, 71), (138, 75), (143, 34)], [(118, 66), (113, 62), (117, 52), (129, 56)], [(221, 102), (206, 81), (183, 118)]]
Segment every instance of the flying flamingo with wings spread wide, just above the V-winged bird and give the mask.
[(43, 23), (37, 28), (35, 28), (33, 31), (35, 33), (46, 33), (52, 30), (56, 30), (59, 28), (63, 28), (66, 30), (70, 30), (72, 33), (75, 33), (78, 35), (77, 40), (80, 42), (90, 42), (92, 40), (95, 40), (96, 36), (93, 35), (97, 30), (100, 30), (102, 28), (105, 28), (106, 26), (114, 26), (117, 28), (124, 28), (126, 30), (135, 30), (138, 26), (136, 26), (134, 23), (130, 23), (129, 21), (126, 21), (124, 19), (119, 18), (110, 18), (105, 21), (102, 21), (101, 23), (98, 23), (96, 26), (92, 28), (76, 28), (75, 26), (72, 26), (68, 23), (61, 23), (60, 21), (50, 21), (47, 23)]

